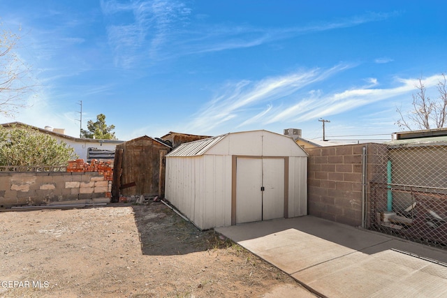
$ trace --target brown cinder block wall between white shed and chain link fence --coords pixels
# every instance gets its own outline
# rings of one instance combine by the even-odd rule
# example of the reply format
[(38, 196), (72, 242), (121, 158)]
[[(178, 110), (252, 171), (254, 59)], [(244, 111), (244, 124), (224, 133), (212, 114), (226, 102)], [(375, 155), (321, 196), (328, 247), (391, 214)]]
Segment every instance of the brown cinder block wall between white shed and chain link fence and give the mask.
[(359, 226), (362, 224), (362, 148), (365, 144), (306, 149), (308, 212)]

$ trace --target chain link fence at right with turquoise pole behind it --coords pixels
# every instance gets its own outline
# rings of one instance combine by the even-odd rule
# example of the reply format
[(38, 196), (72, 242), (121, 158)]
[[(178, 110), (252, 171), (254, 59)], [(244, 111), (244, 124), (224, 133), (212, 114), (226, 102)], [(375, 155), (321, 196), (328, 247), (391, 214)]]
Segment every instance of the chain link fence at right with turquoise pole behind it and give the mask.
[(369, 229), (447, 249), (447, 144), (375, 149)]

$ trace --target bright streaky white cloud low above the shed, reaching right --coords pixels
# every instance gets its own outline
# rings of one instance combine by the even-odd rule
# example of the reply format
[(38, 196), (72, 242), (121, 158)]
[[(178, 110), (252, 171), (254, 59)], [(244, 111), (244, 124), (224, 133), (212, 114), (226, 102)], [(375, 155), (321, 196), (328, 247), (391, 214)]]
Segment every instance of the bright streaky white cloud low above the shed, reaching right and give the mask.
[[(337, 93), (324, 94), (321, 90), (313, 90), (307, 94), (300, 93), (304, 87), (312, 87), (346, 67), (348, 66), (337, 66), (330, 70), (316, 68), (269, 77), (259, 82), (243, 81), (228, 84), (222, 94), (216, 96), (193, 116), (186, 129), (207, 133), (228, 124), (236, 128), (268, 126), (275, 123), (298, 124), (411, 94), (418, 83), (418, 79), (398, 78), (395, 82), (398, 84), (397, 87), (378, 89), (374, 88), (378, 84), (376, 79), (368, 78), (367, 86)], [(428, 89), (435, 87), (439, 80), (441, 75), (432, 75), (426, 77), (423, 83)]]

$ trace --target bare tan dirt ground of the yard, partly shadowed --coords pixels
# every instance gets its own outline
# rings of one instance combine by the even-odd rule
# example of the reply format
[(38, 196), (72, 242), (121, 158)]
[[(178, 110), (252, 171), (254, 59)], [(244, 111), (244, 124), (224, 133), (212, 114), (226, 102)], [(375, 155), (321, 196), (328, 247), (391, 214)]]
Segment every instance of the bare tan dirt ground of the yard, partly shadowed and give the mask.
[(300, 285), (161, 202), (0, 212), (0, 297), (279, 297)]

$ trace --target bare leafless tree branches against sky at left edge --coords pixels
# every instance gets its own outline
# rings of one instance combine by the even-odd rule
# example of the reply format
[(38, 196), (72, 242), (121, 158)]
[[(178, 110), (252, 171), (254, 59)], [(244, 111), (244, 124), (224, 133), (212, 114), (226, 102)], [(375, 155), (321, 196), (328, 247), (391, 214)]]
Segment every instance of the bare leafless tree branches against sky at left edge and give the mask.
[(0, 112), (13, 116), (20, 107), (27, 107), (25, 99), (34, 92), (36, 84), (31, 68), (15, 52), (21, 36), (0, 23)]

